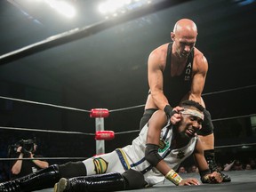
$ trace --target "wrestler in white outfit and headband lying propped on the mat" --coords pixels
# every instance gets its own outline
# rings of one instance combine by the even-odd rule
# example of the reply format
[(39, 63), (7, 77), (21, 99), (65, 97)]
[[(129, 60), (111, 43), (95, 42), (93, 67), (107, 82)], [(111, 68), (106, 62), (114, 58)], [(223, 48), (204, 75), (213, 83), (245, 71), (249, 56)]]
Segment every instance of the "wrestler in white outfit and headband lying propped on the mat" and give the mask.
[(51, 165), (0, 184), (0, 191), (32, 191), (52, 188), (55, 183), (54, 190), (58, 192), (116, 191), (153, 186), (164, 178), (177, 186), (199, 185), (199, 180), (182, 179), (174, 171), (191, 154), (195, 156), (201, 181), (220, 183), (220, 173), (210, 172), (196, 135), (202, 127), (204, 108), (192, 100), (183, 101), (180, 107), (184, 110), (180, 111), (179, 124), (170, 124), (164, 111), (157, 110), (132, 145), (83, 162)]

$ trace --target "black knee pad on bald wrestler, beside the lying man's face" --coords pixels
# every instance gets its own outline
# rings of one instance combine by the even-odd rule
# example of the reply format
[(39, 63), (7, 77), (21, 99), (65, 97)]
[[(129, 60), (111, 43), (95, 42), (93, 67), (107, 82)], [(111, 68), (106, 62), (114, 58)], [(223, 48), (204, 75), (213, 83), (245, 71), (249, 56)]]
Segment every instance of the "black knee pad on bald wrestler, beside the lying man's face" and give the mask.
[(212, 117), (208, 110), (204, 109), (204, 121), (202, 124), (202, 129), (197, 132), (198, 135), (209, 135), (213, 133)]

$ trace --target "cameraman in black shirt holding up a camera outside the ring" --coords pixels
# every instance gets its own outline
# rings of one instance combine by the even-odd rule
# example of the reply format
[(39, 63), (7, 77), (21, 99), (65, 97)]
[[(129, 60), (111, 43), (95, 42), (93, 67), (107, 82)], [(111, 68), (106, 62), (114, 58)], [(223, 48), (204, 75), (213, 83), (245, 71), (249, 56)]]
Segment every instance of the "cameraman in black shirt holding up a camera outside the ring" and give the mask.
[(42, 156), (35, 155), (37, 146), (34, 140), (20, 140), (19, 143), (17, 148), (15, 148), (16, 153), (13, 156), (19, 159), (11, 164), (11, 179), (20, 178), (49, 166), (47, 162), (41, 160), (22, 160), (22, 158), (36, 158)]

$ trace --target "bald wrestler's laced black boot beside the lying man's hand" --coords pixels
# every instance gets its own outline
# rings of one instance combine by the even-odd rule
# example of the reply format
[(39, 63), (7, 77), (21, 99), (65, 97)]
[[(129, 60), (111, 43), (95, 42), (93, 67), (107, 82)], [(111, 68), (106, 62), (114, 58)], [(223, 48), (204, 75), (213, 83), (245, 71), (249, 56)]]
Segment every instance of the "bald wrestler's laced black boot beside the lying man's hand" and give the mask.
[[(214, 155), (214, 149), (211, 150), (204, 150), (204, 157), (207, 161), (207, 164), (209, 166), (209, 169), (211, 172), (220, 172), (217, 169), (217, 164), (215, 162), (215, 155)], [(220, 175), (222, 177), (222, 182), (230, 182), (231, 178), (227, 174), (224, 174), (223, 172), (220, 172)]]

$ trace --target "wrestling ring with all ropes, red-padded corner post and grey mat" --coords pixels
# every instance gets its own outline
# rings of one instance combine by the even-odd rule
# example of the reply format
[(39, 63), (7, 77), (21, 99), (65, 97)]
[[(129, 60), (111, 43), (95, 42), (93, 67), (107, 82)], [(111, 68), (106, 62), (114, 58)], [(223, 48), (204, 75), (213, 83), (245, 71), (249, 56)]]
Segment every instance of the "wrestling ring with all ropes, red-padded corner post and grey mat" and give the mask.
[[(156, 7), (156, 9), (161, 10), (164, 9), (166, 6), (170, 6), (170, 3), (164, 3), (159, 4), (159, 6)], [(156, 12), (156, 10), (154, 10)], [(111, 26), (115, 26), (119, 23), (122, 23), (127, 20), (132, 20), (134, 18), (138, 18), (141, 15), (145, 14), (145, 12), (133, 12), (130, 14), (130, 17), (121, 18), (119, 20), (105, 20), (103, 22), (97, 23), (95, 25), (86, 27), (86, 28), (80, 28), (76, 29), (75, 31), (69, 31), (64, 34), (60, 34), (58, 36), (52, 36), (49, 39), (46, 39), (42, 42), (38, 42), (36, 44), (31, 44), (27, 47), (24, 47), (20, 50), (17, 50), (15, 52), (9, 52), (7, 54), (4, 54), (0, 56), (0, 63), (6, 64), (8, 62), (11, 62), (13, 60), (19, 60), (20, 58), (26, 57), (30, 54), (44, 51), (45, 49), (51, 48), (53, 46), (57, 46), (60, 44), (67, 44), (70, 41), (77, 40), (82, 37), (91, 36), (95, 33), (100, 32), (101, 30), (104, 30), (106, 28), (110, 28)], [(255, 89), (256, 85), (248, 85), (244, 87), (236, 87), (234, 89), (225, 90), (225, 91), (219, 91), (219, 92), (209, 92), (204, 93), (204, 97), (207, 97), (208, 95), (212, 94), (220, 94), (222, 92), (236, 92), (236, 91), (243, 91), (245, 89)], [(61, 137), (61, 135), (79, 135), (79, 136), (88, 136), (92, 137), (95, 140), (95, 146), (96, 151), (95, 154), (102, 154), (105, 153), (105, 141), (108, 142), (108, 140), (115, 140), (115, 137), (118, 135), (123, 134), (131, 134), (135, 133), (138, 134), (140, 130), (129, 130), (125, 132), (114, 132), (111, 130), (108, 130), (108, 127), (104, 127), (104, 118), (108, 118), (109, 114), (114, 114), (120, 111), (124, 110), (130, 110), (130, 109), (136, 109), (136, 108), (143, 108), (144, 105), (138, 105), (134, 107), (128, 107), (128, 108), (118, 108), (118, 109), (108, 109), (108, 108), (92, 108), (92, 109), (81, 109), (81, 108), (70, 108), (60, 105), (54, 105), (50, 103), (44, 103), (44, 102), (37, 102), (33, 100), (20, 100), (17, 98), (10, 98), (10, 97), (4, 97), (0, 96), (1, 100), (12, 100), (13, 102), (22, 102), (22, 103), (28, 103), (29, 105), (37, 105), (37, 106), (44, 106), (46, 108), (58, 108), (63, 110), (70, 110), (70, 111), (76, 111), (78, 113), (86, 113), (87, 115), (90, 114), (91, 118), (95, 118), (95, 132), (65, 132), (65, 131), (57, 131), (57, 130), (47, 130), (47, 129), (37, 129), (37, 128), (22, 128), (22, 127), (12, 127), (12, 126), (0, 126), (0, 130), (2, 132), (8, 131), (8, 132), (46, 132), (47, 134), (51, 135), (58, 135), (58, 137)], [(142, 114), (141, 114), (142, 115)], [(237, 118), (251, 118), (253, 116), (256, 116), (256, 114), (247, 114), (244, 116), (229, 116), (229, 117), (223, 117), (218, 119), (213, 119), (213, 124), (218, 124), (218, 122), (221, 121), (227, 121)], [(138, 122), (139, 124), (139, 122)], [(15, 134), (15, 133), (13, 133)], [(51, 136), (50, 136), (51, 137)], [(54, 139), (52, 139), (54, 140)], [(245, 144), (236, 144), (236, 145), (228, 145), (228, 146), (217, 146), (216, 150), (221, 150), (223, 148), (236, 148), (236, 147), (250, 147), (255, 146), (256, 142), (250, 142)], [(116, 146), (120, 147), (120, 146)], [(107, 151), (109, 152), (109, 151)], [(88, 157), (88, 156), (87, 156)], [(43, 159), (43, 160), (64, 160), (64, 161), (70, 161), (70, 160), (84, 160), (86, 156), (77, 156), (77, 157), (44, 157), (44, 158), (35, 158), (35, 159)], [(16, 160), (15, 158), (0, 158), (0, 161), (2, 162), (8, 162)], [(31, 158), (23, 158), (23, 160), (31, 160)], [(184, 173), (180, 174), (183, 178), (190, 178), (195, 177), (199, 180), (199, 175), (197, 173)], [(153, 188), (145, 188), (140, 189), (139, 191), (236, 191), (236, 190), (244, 190), (244, 191), (255, 191), (256, 188), (256, 170), (252, 171), (234, 171), (234, 172), (228, 172), (228, 175), (231, 176), (232, 181), (230, 183), (221, 183), (217, 185), (200, 185), (200, 186), (193, 186), (193, 187), (176, 187), (173, 186), (171, 182), (168, 180), (165, 180), (164, 183), (157, 184)], [(40, 191), (52, 191), (52, 188), (44, 189)]]

